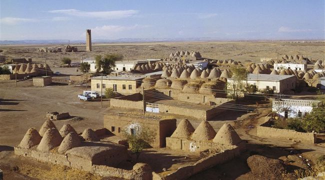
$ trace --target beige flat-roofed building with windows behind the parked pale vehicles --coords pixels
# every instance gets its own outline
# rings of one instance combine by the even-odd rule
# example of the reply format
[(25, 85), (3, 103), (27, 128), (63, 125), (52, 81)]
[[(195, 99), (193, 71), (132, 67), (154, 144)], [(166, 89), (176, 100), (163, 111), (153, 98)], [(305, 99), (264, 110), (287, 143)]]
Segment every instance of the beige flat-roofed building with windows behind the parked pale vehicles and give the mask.
[(131, 94), (136, 92), (136, 88), (141, 85), (143, 77), (125, 77), (125, 76), (96, 76), (91, 78), (91, 90), (100, 93), (101, 88), (112, 88), (113, 91), (121, 94)]

